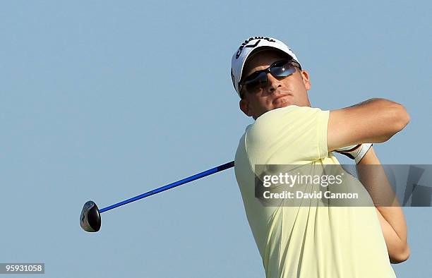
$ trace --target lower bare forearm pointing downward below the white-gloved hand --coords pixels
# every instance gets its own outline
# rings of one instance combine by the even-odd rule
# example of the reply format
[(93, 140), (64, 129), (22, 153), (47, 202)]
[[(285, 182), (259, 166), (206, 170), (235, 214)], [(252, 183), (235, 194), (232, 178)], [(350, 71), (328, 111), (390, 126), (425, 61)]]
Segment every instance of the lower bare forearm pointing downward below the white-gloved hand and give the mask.
[(359, 180), (368, 190), (376, 206), (390, 261), (396, 263), (407, 260), (409, 246), (404, 213), (373, 147), (356, 165), (356, 169)]

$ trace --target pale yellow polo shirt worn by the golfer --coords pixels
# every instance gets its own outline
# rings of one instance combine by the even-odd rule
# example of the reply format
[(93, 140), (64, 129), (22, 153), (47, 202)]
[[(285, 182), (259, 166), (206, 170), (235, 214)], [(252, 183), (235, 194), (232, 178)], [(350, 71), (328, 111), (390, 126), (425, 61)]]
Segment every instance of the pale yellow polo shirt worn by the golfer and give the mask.
[[(264, 206), (256, 164), (340, 164), (328, 152), (330, 111), (291, 105), (247, 126), (235, 174), (267, 278), (395, 277), (375, 207)], [(361, 185), (361, 183), (360, 183)]]

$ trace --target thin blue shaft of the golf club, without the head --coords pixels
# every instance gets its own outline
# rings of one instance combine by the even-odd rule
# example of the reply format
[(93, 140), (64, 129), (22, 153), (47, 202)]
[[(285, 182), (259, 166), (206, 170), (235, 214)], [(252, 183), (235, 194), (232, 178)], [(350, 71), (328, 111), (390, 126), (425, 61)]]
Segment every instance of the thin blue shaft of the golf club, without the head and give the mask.
[(219, 171), (224, 171), (225, 169), (229, 169), (231, 167), (234, 167), (234, 161), (222, 164), (222, 165), (215, 167), (215, 168), (212, 168), (212, 169), (208, 169), (207, 171), (200, 172), (200, 173), (195, 174), (193, 176), (189, 176), (186, 179), (181, 179), (180, 181), (175, 181), (174, 183), (169, 183), (166, 186), (161, 186), (160, 188), (153, 189), (152, 191), (148, 191), (146, 193), (135, 196), (135, 197), (130, 198), (128, 200), (124, 200), (120, 203), (110, 205), (109, 207), (104, 207), (101, 210), (99, 210), (99, 212), (102, 213), (102, 212), (106, 212), (107, 210), (112, 210), (116, 207), (120, 207), (121, 205), (126, 205), (128, 203), (135, 202), (136, 200), (143, 199), (143, 198), (148, 197), (150, 195), (155, 195), (155, 194), (160, 193), (162, 191), (167, 191), (168, 189), (174, 188), (176, 186), (181, 186), (182, 184), (188, 183), (190, 181), (195, 181), (197, 179), (201, 179), (205, 176), (210, 176), (211, 174), (215, 174)]

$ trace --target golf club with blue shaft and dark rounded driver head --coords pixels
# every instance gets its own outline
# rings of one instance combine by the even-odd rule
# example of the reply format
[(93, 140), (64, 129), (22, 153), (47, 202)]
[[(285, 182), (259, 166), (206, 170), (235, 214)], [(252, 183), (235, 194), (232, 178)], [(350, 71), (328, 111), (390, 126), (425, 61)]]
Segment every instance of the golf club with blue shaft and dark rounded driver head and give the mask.
[(186, 179), (181, 179), (180, 181), (175, 181), (174, 183), (169, 183), (166, 186), (161, 186), (160, 188), (153, 189), (152, 191), (148, 191), (148, 192), (143, 193), (141, 195), (137, 195), (133, 198), (129, 198), (128, 200), (121, 201), (119, 203), (116, 203), (114, 205), (110, 205), (108, 207), (104, 207), (101, 210), (99, 210), (97, 208), (97, 205), (95, 204), (95, 202), (90, 200), (84, 204), (83, 210), (81, 211), (80, 226), (81, 226), (81, 228), (83, 228), (84, 231), (90, 231), (90, 232), (99, 231), (100, 225), (101, 225), (100, 214), (102, 212), (107, 212), (108, 210), (112, 210), (116, 207), (120, 207), (121, 205), (126, 205), (128, 203), (135, 202), (136, 200), (143, 199), (143, 198), (148, 197), (150, 195), (155, 195), (157, 193), (160, 193), (162, 191), (166, 191), (166, 190), (174, 188), (176, 186), (181, 186), (184, 183), (188, 183), (190, 181), (195, 181), (197, 179), (201, 179), (205, 176), (215, 174), (219, 171), (223, 171), (223, 170), (229, 169), (231, 167), (234, 167), (234, 161), (222, 164), (222, 165), (215, 167), (215, 168), (212, 168), (212, 169), (208, 169), (207, 171), (200, 172), (200, 173), (195, 174), (193, 176), (189, 176)]

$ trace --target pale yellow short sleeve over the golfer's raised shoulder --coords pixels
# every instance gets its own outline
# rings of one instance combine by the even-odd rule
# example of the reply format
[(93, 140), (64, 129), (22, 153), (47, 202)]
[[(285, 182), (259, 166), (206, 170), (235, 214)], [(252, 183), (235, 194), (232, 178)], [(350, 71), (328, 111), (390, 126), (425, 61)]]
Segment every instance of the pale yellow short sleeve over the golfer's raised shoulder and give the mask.
[(328, 156), (330, 111), (290, 105), (260, 116), (246, 133), (254, 164), (307, 164)]

